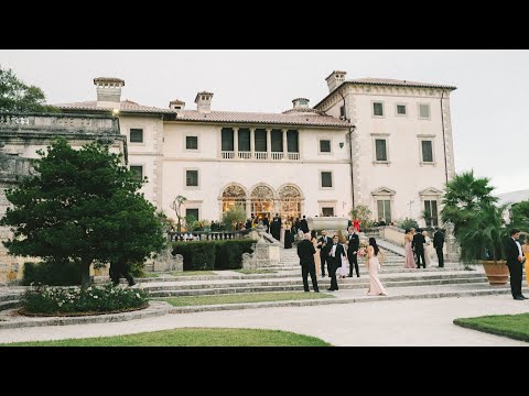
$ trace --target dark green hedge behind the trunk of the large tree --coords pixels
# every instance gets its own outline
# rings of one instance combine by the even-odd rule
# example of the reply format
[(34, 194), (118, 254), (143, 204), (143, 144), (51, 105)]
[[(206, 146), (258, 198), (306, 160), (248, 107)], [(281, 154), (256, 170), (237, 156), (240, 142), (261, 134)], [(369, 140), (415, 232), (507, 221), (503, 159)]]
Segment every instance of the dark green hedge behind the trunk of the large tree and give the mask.
[(80, 285), (80, 265), (71, 262), (41, 262), (24, 264), (22, 285), (31, 283), (50, 286)]

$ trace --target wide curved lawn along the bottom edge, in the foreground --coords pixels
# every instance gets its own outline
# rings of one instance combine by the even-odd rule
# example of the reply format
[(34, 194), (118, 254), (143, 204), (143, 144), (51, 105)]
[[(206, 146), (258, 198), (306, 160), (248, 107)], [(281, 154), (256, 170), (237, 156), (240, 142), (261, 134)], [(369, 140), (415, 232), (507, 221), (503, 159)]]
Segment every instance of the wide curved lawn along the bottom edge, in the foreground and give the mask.
[(260, 329), (184, 328), (118, 337), (31, 341), (0, 346), (332, 346), (310, 336)]

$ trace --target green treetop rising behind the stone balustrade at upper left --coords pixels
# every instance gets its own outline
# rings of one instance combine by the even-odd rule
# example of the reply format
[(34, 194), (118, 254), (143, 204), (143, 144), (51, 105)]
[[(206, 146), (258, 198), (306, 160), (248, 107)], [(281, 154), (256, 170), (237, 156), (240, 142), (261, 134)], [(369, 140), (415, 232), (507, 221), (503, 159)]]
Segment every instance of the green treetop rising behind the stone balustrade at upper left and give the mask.
[(56, 112), (57, 108), (45, 105), (41, 88), (19, 80), (11, 69), (0, 66), (0, 111)]

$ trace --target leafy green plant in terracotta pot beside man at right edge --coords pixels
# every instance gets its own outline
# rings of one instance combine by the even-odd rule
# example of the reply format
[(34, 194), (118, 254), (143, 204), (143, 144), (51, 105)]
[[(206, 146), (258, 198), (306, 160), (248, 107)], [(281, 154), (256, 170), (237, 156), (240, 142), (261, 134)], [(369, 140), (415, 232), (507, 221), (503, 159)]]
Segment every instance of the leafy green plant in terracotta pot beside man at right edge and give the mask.
[(505, 208), (494, 202), (479, 205), (456, 235), (461, 261), (465, 264), (481, 262), (490, 285), (505, 285), (509, 279), (509, 268), (504, 260), (504, 242), (508, 238), (503, 220)]

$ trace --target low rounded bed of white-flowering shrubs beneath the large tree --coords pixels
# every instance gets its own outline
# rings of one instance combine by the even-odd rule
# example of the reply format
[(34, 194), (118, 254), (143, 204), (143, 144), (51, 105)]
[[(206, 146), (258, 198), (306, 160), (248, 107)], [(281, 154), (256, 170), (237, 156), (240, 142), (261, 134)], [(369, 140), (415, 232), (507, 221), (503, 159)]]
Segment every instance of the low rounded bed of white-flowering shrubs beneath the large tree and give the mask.
[(79, 287), (36, 286), (22, 297), (22, 308), (29, 314), (109, 312), (139, 308), (148, 301), (147, 292), (108, 284)]

